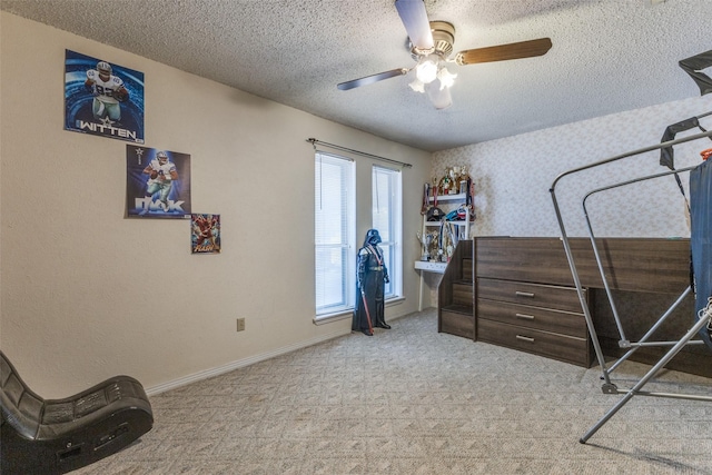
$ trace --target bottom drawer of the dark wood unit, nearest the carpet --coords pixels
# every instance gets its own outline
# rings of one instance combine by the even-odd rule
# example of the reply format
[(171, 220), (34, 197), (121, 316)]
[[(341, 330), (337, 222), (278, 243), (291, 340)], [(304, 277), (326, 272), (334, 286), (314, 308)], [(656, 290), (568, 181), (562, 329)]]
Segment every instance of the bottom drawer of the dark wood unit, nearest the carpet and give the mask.
[(477, 319), (477, 338), (481, 342), (585, 367), (591, 364), (590, 345), (586, 338), (575, 338), (486, 319)]

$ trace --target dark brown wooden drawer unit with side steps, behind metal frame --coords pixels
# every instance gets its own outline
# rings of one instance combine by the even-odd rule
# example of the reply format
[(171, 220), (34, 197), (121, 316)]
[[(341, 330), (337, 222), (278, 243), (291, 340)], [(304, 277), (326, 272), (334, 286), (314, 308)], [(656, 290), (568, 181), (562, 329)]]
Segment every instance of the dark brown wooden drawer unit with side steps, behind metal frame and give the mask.
[[(690, 284), (690, 240), (602, 238), (596, 243), (625, 336), (635, 342)], [(463, 244), (438, 287), (441, 331), (591, 366), (594, 352), (561, 239), (478, 237), (458, 247)], [(619, 345), (591, 241), (573, 238), (570, 244), (599, 342), (605, 355), (620, 356), (625, 349)], [(469, 287), (465, 275), (472, 269)], [(472, 300), (463, 296), (467, 288)], [(455, 305), (455, 300), (472, 304)], [(652, 340), (680, 338), (693, 316), (690, 297)], [(666, 349), (643, 347), (631, 359), (654, 363)], [(703, 345), (691, 346), (668, 367), (712, 377), (712, 354)]]

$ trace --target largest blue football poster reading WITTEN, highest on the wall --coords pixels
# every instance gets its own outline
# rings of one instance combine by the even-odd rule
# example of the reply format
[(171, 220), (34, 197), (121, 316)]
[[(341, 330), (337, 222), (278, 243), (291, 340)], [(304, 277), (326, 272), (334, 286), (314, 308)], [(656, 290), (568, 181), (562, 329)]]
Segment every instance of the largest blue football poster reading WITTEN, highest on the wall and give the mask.
[(144, 73), (65, 50), (65, 129), (144, 144)]

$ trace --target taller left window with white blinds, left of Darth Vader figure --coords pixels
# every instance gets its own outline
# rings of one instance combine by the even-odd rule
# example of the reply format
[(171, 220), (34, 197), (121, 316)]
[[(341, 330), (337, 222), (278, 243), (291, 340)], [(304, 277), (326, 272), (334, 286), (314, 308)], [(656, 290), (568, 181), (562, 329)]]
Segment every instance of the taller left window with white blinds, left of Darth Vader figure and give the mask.
[(356, 186), (354, 162), (315, 155), (314, 240), (316, 315), (354, 306), (356, 293)]

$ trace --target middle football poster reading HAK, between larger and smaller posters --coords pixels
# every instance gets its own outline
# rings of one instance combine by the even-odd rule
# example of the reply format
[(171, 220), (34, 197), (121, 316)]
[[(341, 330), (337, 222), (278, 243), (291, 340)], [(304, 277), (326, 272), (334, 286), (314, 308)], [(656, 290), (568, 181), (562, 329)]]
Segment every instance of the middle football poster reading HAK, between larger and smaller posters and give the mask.
[(129, 218), (190, 218), (190, 156), (126, 146)]

